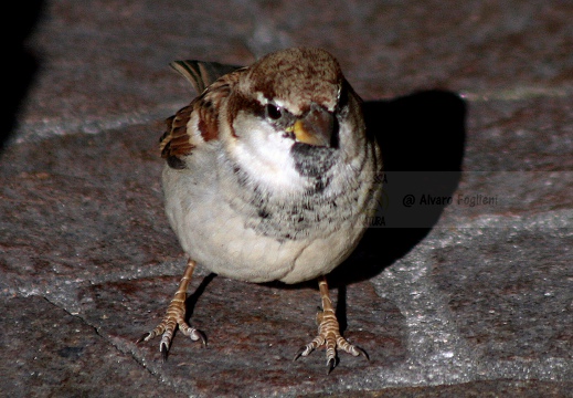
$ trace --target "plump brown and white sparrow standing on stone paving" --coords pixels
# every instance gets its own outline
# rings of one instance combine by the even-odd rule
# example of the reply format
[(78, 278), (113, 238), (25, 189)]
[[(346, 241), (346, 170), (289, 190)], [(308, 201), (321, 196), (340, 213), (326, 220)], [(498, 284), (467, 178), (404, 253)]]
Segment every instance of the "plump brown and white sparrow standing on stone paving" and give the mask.
[(167, 119), (160, 139), (169, 222), (189, 260), (161, 323), (163, 360), (185, 322), (195, 265), (253, 283), (318, 280), (318, 334), (295, 360), (326, 347), (368, 354), (341, 334), (327, 276), (357, 247), (381, 192), (381, 151), (367, 134), (362, 101), (327, 51), (293, 48), (237, 67), (199, 61), (171, 66), (198, 93)]

